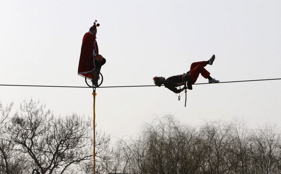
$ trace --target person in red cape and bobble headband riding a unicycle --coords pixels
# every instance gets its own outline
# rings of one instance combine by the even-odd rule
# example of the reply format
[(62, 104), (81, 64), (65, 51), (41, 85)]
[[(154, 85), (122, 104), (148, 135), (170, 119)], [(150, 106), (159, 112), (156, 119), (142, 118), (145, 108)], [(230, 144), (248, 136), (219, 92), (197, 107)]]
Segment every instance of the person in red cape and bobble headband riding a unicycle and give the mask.
[(90, 27), (89, 31), (84, 35), (81, 53), (78, 65), (78, 75), (85, 77), (88, 72), (94, 71), (93, 84), (98, 85), (98, 77), (101, 71), (101, 66), (105, 64), (106, 59), (98, 54), (98, 44), (96, 42), (97, 27), (96, 24)]

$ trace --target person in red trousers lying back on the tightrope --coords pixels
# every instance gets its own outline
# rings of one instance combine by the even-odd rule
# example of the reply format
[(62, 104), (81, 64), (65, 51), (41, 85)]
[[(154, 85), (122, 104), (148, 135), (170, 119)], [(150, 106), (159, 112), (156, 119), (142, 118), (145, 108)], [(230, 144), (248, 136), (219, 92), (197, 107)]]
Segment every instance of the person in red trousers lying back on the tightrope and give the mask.
[[(209, 83), (217, 83), (219, 80), (213, 79), (210, 76), (210, 73), (204, 68), (206, 65), (212, 65), (215, 60), (215, 55), (213, 55), (208, 61), (194, 62), (190, 66), (190, 71), (186, 74), (180, 74), (176, 76), (169, 77), (165, 79), (165, 77), (154, 77), (154, 84), (156, 86), (161, 86), (164, 84), (166, 88), (169, 90), (180, 93), (185, 89), (192, 90), (192, 84), (194, 84), (199, 77), (199, 74), (205, 78), (209, 79)], [(176, 87), (184, 86), (182, 89), (177, 89)]]

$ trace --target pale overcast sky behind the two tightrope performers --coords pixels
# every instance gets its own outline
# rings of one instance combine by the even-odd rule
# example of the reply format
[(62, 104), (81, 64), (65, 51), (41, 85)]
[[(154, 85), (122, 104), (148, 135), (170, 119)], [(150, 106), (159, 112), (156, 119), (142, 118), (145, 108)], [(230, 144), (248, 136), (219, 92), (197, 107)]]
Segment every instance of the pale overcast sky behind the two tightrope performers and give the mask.
[[(207, 61), (227, 81), (281, 78), (281, 1), (0, 1), (0, 84), (87, 86), (77, 75), (83, 35), (98, 20), (102, 86), (153, 85)], [(198, 77), (196, 83), (208, 80)], [(97, 129), (122, 138), (155, 116), (197, 126), (244, 117), (252, 128), (281, 121), (281, 80), (194, 85), (181, 100), (164, 87), (99, 88)], [(0, 86), (0, 100), (40, 100), (56, 116), (93, 116), (91, 88)]]

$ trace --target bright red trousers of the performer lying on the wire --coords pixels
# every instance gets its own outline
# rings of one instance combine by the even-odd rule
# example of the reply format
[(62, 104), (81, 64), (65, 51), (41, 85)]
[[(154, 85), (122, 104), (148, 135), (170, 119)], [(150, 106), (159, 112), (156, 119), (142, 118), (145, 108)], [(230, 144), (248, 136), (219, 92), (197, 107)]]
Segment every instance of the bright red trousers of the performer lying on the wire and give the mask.
[(190, 66), (190, 83), (194, 84), (199, 77), (199, 74), (207, 79), (207, 77), (210, 75), (210, 73), (204, 68), (206, 66), (205, 64), (206, 61), (201, 61), (201, 62), (194, 62)]

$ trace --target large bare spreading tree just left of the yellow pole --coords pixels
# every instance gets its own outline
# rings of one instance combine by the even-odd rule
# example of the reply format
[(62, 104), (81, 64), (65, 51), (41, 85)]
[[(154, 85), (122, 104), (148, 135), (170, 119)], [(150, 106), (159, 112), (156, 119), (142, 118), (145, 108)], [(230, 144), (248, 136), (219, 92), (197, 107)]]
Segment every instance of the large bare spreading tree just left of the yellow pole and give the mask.
[(29, 158), (30, 171), (64, 173), (92, 157), (91, 121), (76, 114), (55, 118), (39, 102), (23, 102), (9, 126), (10, 139)]

